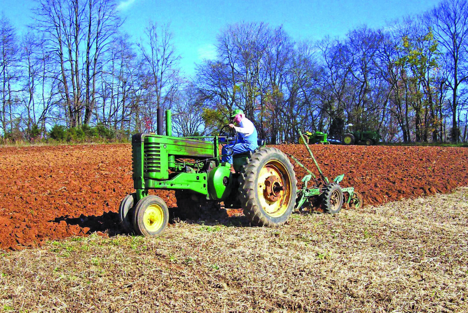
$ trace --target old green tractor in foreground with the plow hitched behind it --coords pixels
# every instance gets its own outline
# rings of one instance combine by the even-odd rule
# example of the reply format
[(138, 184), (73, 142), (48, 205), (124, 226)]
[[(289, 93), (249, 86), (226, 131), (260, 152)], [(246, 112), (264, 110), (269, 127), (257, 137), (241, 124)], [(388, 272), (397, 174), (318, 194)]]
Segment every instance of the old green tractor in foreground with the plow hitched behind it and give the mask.
[[(219, 208), (221, 202), (225, 208), (242, 208), (245, 216), (256, 226), (285, 224), (295, 208), (307, 206), (310, 197), (322, 197), (325, 211), (332, 214), (339, 211), (344, 203), (362, 204), (362, 197), (353, 193), (352, 187), (341, 189), (338, 185), (344, 175), (329, 183), (320, 172), (326, 182), (307, 187), (312, 177), (316, 181), (309, 171), (310, 174), (303, 179), (306, 187), (298, 190), (287, 155), (277, 148), (266, 147), (264, 140), (259, 140), (259, 148), (255, 151), (234, 154), (235, 173), (231, 173), (231, 165), (220, 161), (219, 145), (236, 140), (236, 134), (235, 131), (223, 132), (224, 129), (234, 131), (226, 125), (219, 136), (173, 137), (168, 110), (164, 136), (162, 110), (158, 109), (158, 134), (138, 133), (132, 136), (135, 192), (125, 197), (119, 207), (120, 223), (126, 232), (159, 236), (166, 228), (168, 206), (161, 197), (149, 195), (150, 189), (175, 190), (178, 209), (195, 215), (206, 208)], [(232, 154), (232, 150), (227, 150)], [(343, 192), (347, 192), (347, 198)]]

